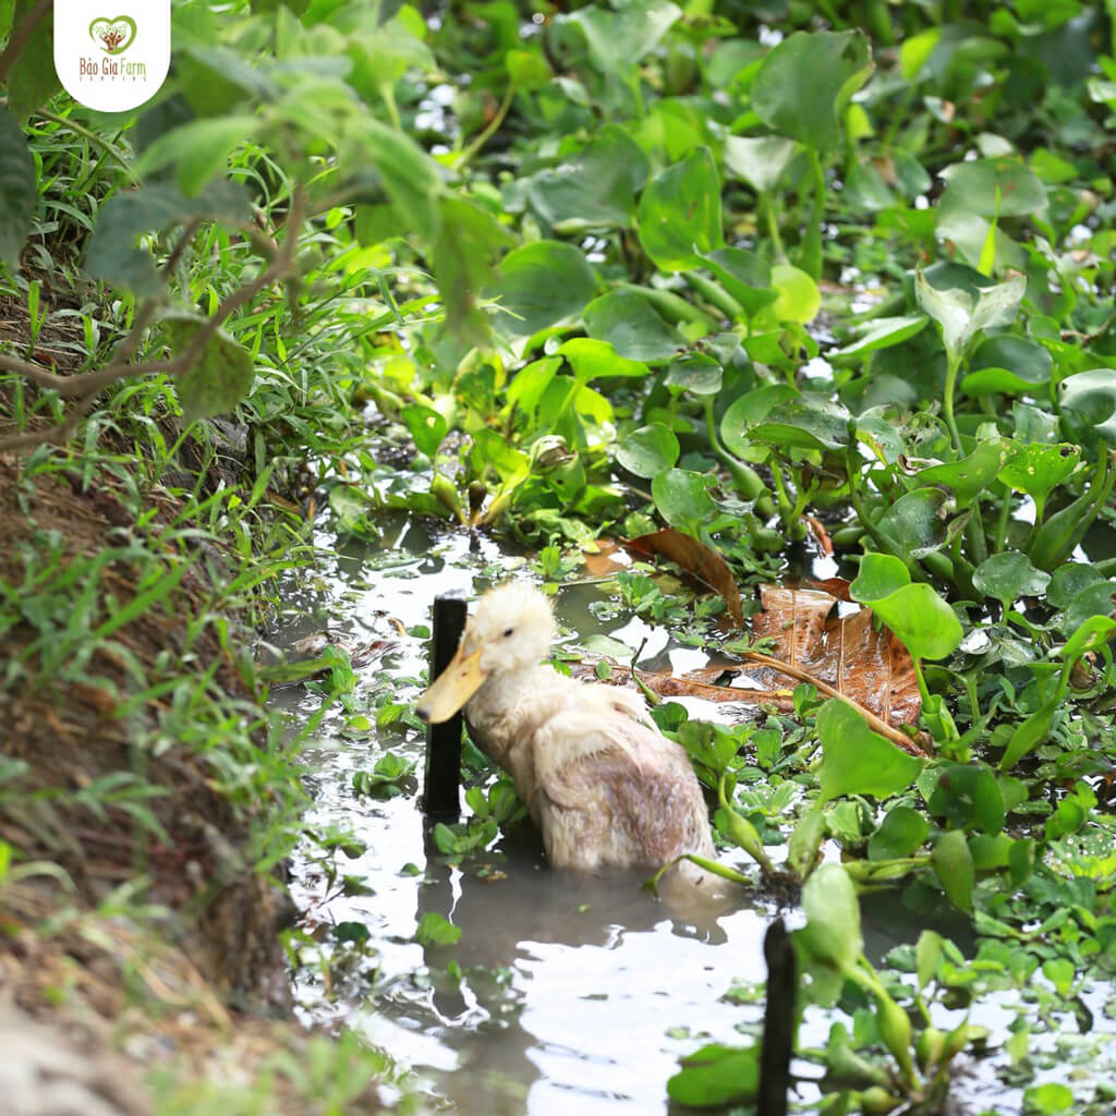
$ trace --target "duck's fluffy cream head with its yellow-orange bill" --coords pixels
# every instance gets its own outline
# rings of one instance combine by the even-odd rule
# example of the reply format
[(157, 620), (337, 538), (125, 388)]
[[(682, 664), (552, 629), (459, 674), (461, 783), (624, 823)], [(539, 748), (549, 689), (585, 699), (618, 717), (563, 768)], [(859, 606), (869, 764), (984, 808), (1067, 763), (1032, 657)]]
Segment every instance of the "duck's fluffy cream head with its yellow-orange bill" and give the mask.
[(490, 677), (537, 666), (555, 636), (550, 600), (531, 585), (509, 581), (481, 597), (452, 662), (419, 699), (415, 712), (448, 721)]

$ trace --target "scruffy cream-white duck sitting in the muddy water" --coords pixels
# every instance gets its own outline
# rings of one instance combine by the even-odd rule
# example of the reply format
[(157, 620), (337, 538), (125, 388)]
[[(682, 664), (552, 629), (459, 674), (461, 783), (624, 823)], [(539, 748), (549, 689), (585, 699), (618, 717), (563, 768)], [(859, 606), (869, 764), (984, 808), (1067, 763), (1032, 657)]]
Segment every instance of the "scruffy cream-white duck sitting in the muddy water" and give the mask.
[[(571, 679), (546, 662), (550, 599), (511, 581), (479, 600), (456, 654), (419, 699), (430, 723), (464, 709), (541, 830), (555, 868), (662, 868), (714, 855), (709, 811), (685, 750), (658, 730), (643, 696)], [(713, 877), (690, 868), (690, 879)], [(708, 877), (708, 879), (706, 879)]]

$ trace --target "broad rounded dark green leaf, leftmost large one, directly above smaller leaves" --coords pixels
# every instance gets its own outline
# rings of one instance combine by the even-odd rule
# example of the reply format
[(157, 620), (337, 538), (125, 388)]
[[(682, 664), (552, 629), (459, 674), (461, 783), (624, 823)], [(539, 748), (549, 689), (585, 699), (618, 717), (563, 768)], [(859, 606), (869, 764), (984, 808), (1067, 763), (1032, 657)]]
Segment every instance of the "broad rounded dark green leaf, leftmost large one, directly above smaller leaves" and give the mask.
[(585, 253), (558, 240), (536, 240), (509, 252), (497, 282), (484, 291), (500, 300), (497, 325), (513, 337), (576, 318), (597, 289)]

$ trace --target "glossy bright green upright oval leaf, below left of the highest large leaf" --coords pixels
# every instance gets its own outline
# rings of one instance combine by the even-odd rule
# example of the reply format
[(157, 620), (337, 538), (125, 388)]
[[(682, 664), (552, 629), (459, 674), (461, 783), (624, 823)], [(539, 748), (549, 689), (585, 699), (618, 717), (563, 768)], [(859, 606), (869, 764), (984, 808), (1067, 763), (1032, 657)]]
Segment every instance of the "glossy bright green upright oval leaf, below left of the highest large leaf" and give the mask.
[(639, 242), (662, 271), (701, 267), (703, 253), (724, 244), (721, 183), (708, 147), (695, 147), (644, 187)]

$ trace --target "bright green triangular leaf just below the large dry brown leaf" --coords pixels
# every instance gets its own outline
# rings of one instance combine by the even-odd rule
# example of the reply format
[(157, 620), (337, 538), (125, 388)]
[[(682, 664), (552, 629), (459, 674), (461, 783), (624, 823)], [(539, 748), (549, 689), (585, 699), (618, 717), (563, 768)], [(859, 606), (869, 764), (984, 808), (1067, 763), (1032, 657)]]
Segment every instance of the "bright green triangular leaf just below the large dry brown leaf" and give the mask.
[(873, 732), (862, 713), (836, 698), (818, 710), (818, 737), (822, 802), (845, 795), (889, 798), (906, 790), (923, 767), (922, 760)]

